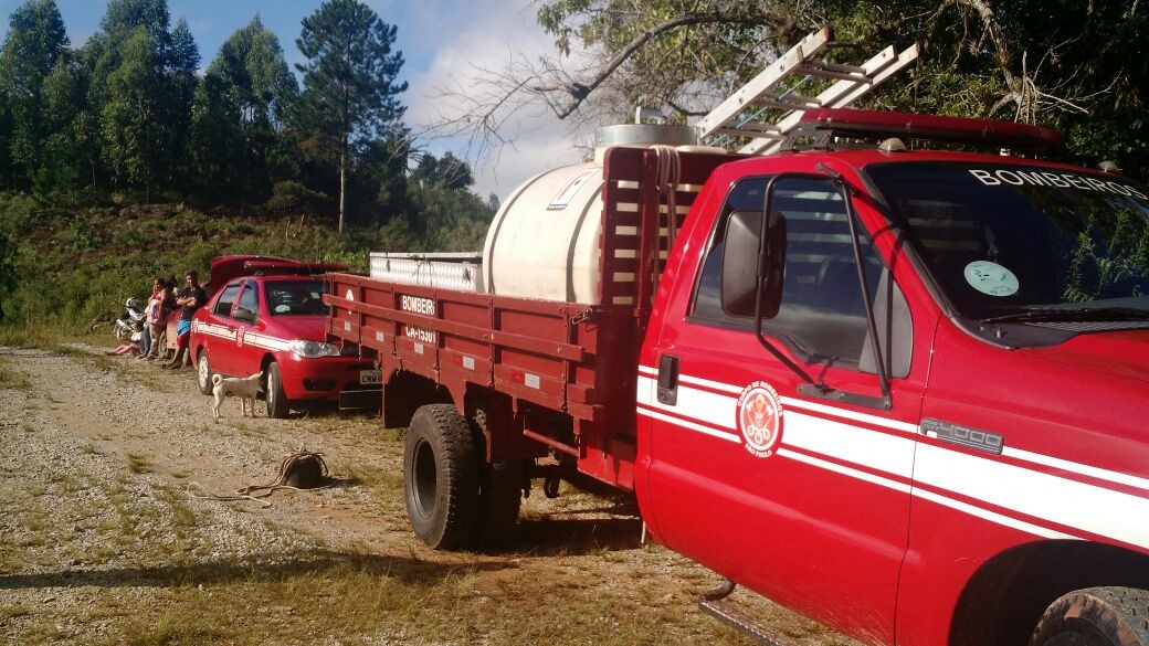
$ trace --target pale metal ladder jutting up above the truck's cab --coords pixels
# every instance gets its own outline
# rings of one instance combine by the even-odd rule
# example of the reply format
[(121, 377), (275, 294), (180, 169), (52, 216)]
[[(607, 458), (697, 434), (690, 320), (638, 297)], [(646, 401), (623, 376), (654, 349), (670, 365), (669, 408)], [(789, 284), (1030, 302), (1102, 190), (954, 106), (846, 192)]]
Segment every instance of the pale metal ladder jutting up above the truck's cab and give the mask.
[[(741, 145), (739, 153), (770, 154), (799, 126), (804, 110), (845, 108), (918, 57), (918, 46), (912, 45), (900, 53), (893, 46), (886, 47), (861, 66), (816, 59), (831, 40), (833, 32), (826, 25), (778, 56), (694, 124), (699, 140), (730, 148), (748, 138), (749, 143)], [(815, 97), (799, 93), (817, 79), (835, 82)], [(786, 113), (773, 122), (764, 120), (768, 113), (778, 109)]]

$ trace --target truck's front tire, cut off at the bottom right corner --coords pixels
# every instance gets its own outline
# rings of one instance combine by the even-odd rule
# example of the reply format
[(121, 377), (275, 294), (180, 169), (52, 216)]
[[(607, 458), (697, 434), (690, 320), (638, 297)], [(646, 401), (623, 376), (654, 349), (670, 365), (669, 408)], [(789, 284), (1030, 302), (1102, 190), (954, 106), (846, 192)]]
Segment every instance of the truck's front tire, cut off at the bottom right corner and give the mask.
[(1088, 587), (1054, 601), (1030, 646), (1149, 646), (1149, 592)]

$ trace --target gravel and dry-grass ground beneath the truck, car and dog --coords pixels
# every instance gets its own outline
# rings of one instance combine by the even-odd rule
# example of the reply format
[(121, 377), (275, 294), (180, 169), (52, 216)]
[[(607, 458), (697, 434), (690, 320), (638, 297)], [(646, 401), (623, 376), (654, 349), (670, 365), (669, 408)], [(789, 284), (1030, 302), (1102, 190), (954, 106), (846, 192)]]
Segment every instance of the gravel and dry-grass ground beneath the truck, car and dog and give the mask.
[[(402, 430), (313, 410), (213, 421), (191, 370), (0, 348), (0, 643), (749, 644), (694, 605), (720, 579), (640, 543), (625, 500), (524, 501), (496, 553), (408, 526)], [(199, 498), (322, 452), (333, 486)], [(745, 591), (796, 644), (853, 644)]]

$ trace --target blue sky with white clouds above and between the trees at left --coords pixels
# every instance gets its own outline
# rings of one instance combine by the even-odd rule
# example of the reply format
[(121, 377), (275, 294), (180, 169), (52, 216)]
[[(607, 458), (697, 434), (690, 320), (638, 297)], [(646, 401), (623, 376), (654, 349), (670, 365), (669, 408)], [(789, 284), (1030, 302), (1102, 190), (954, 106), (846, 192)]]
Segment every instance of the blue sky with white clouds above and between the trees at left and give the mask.
[[(387, 23), (399, 28), (396, 46), (406, 64), (401, 78), (409, 84), (401, 95), (408, 106), (406, 121), (416, 132), (450, 106), (435, 98), (437, 89), (466, 87), (476, 68), (499, 69), (511, 56), (537, 60), (553, 53), (553, 40), (534, 20), (531, 0), (365, 0)], [(8, 15), (23, 0), (0, 0), (0, 16), (7, 32)], [(168, 0), (171, 22), (187, 20), (206, 68), (219, 46), (236, 30), (260, 15), (263, 24), (279, 37), (287, 64), (302, 61), (295, 46), (300, 21), (313, 14), (319, 0)], [(102, 0), (56, 0), (74, 47), (82, 46), (99, 30), (107, 2)], [(529, 177), (550, 168), (574, 163), (578, 152), (566, 128), (541, 109), (524, 114), (510, 131), (511, 146), (476, 159), (464, 140), (419, 140), (425, 149), (450, 151), (475, 164), (476, 193), (503, 200)]]

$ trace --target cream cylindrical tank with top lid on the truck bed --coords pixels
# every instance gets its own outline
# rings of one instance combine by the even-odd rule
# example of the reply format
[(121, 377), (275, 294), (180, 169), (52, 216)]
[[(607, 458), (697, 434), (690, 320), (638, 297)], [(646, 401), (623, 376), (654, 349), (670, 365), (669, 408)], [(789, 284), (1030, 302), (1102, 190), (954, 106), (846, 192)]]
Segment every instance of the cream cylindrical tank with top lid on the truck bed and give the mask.
[(515, 190), (495, 214), (483, 248), (491, 293), (597, 303), (602, 154), (609, 146), (693, 146), (686, 125), (600, 128), (595, 160), (548, 170)]

